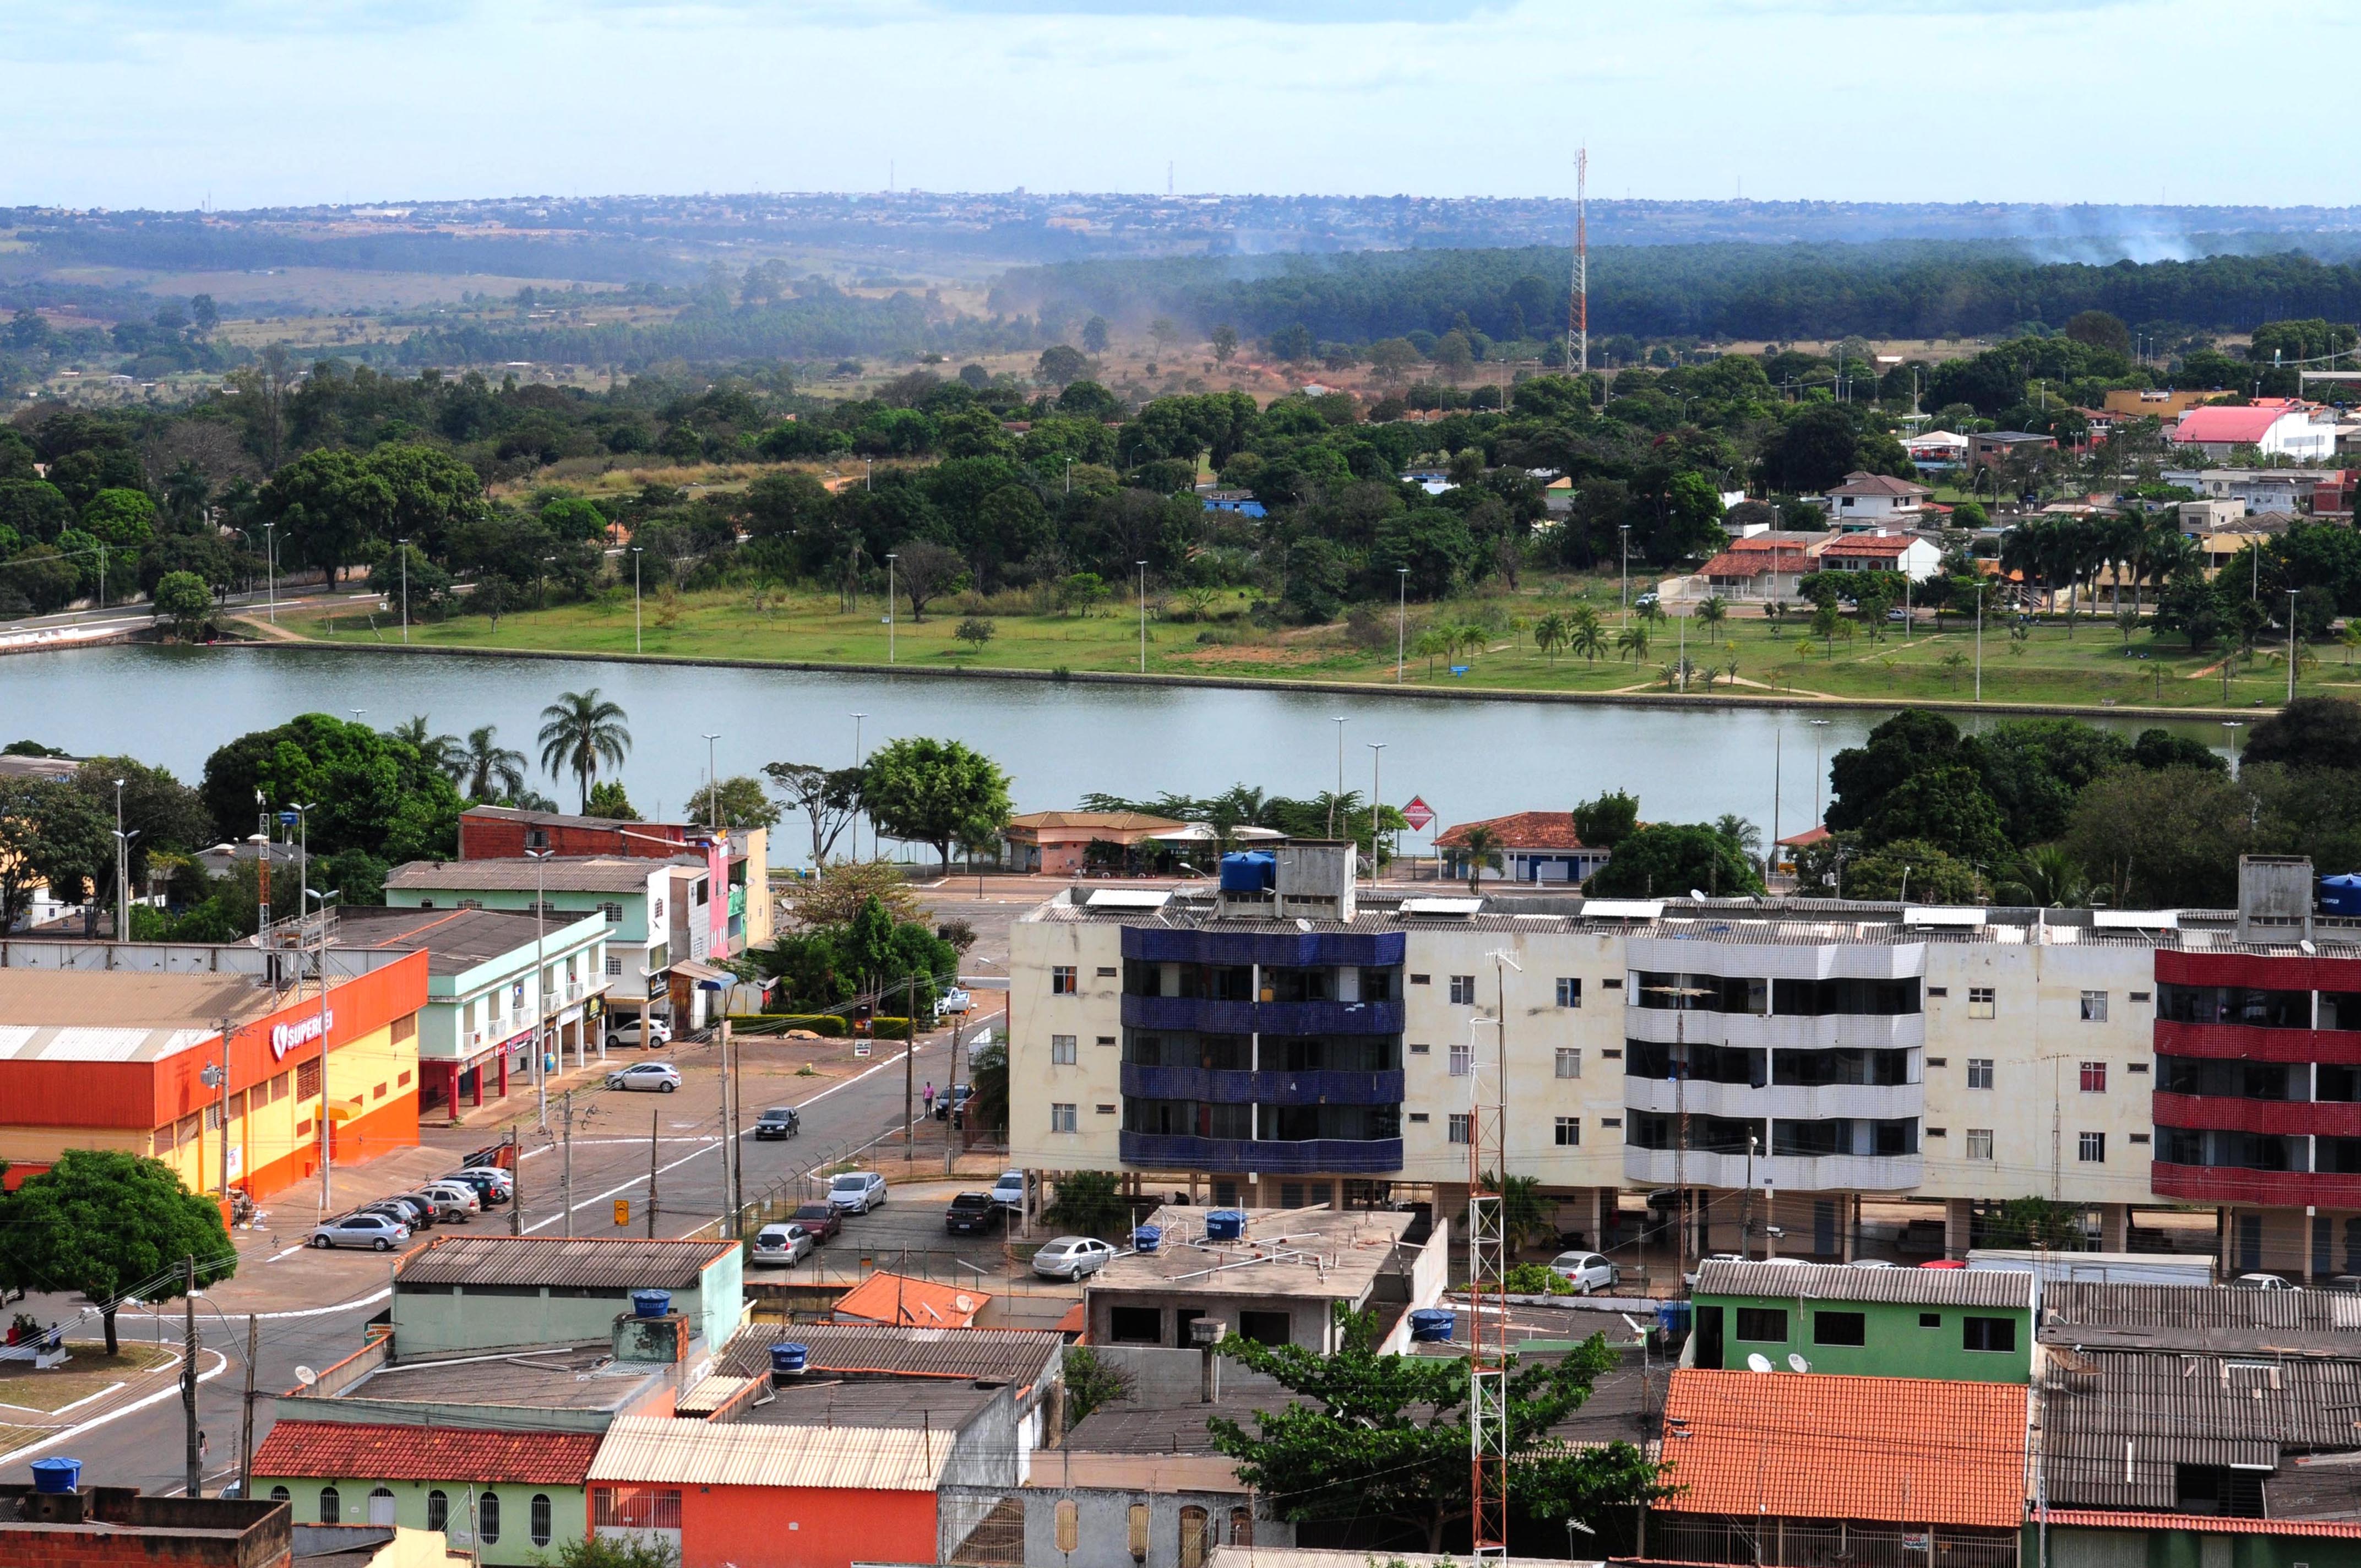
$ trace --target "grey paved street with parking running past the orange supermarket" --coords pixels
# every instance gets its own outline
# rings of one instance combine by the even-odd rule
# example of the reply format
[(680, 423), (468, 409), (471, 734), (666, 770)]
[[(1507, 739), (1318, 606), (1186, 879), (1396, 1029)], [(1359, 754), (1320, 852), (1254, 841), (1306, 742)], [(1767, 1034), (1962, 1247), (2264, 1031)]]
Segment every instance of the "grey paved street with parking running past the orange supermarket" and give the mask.
[[(574, 1200), (560, 1195), (564, 1171), (562, 1098), (550, 1100), (550, 1141), (538, 1141), (531, 1091), (522, 1098), (519, 1193), (522, 1228), (531, 1235), (647, 1235), (649, 1124), (656, 1133), (656, 1230), (682, 1235), (708, 1223), (722, 1209), (722, 1122), (720, 1122), (720, 1051), (713, 1044), (682, 1044), (659, 1053), (685, 1077), (675, 1093), (609, 1091), (593, 1072), (574, 1089)], [(796, 1072), (810, 1048), (744, 1041), (741, 1145), (746, 1150), (744, 1193), (751, 1200), (781, 1181), (793, 1181), (819, 1164), (833, 1162), (885, 1131), (900, 1129), (904, 1065), (890, 1041), (876, 1044), (869, 1060), (845, 1060), (843, 1044), (824, 1056), (822, 1077)], [(914, 1082), (949, 1084), (949, 1034), (923, 1037), (911, 1060)], [(628, 1065), (630, 1058), (626, 1058)], [(966, 1058), (961, 1058), (963, 1077)], [(767, 1105), (800, 1105), (803, 1133), (784, 1143), (756, 1143), (753, 1117)], [(458, 1155), (496, 1141), (486, 1126), (430, 1126), (420, 1131), (423, 1152), (394, 1152), (373, 1164), (340, 1171), (335, 1197), (340, 1207), (416, 1183), (439, 1169), (451, 1169)], [(940, 1150), (940, 1141), (935, 1143)], [(432, 1155), (442, 1155), (434, 1159)], [(378, 1169), (382, 1167), (382, 1169)], [(378, 1171), (373, 1176), (373, 1171)], [(208, 1436), (205, 1488), (212, 1490), (236, 1474), (238, 1407), (243, 1393), (246, 1313), (260, 1315), (262, 1348), (255, 1386), (264, 1396), (293, 1389), (295, 1367), (326, 1367), (361, 1346), (361, 1329), (385, 1308), (387, 1259), (368, 1252), (312, 1252), (302, 1244), (314, 1221), (312, 1202), (302, 1211), (281, 1207), (269, 1214), (272, 1228), (241, 1235), (241, 1266), (198, 1301), (198, 1337), (203, 1341), (198, 1391), (198, 1426)], [(614, 1226), (614, 1200), (630, 1200), (633, 1226)], [(472, 1221), (475, 1233), (510, 1228), (508, 1209)], [(434, 1230), (432, 1235), (444, 1235)], [(942, 1219), (935, 1204), (909, 1202), (852, 1219), (836, 1247), (942, 1247)], [(42, 1322), (73, 1318), (80, 1304), (61, 1296), (33, 1296), (21, 1311)], [(125, 1339), (158, 1337), (175, 1344), (182, 1332), (182, 1308), (165, 1304), (161, 1322), (149, 1313), (125, 1311), (118, 1320)], [(92, 1320), (68, 1334), (97, 1334)], [(83, 1459), (94, 1485), (137, 1485), (146, 1492), (177, 1492), (184, 1485), (184, 1419), (175, 1384), (156, 1384), (161, 1398), (144, 1407), (125, 1407), (102, 1424), (68, 1429), (61, 1438), (33, 1450), (19, 1450), (0, 1462), (0, 1481), (28, 1481), (31, 1459), (71, 1455)], [(144, 1393), (130, 1389), (125, 1396)], [(5, 1412), (0, 1412), (5, 1415)], [(272, 1422), (272, 1400), (255, 1405), (255, 1440)]]

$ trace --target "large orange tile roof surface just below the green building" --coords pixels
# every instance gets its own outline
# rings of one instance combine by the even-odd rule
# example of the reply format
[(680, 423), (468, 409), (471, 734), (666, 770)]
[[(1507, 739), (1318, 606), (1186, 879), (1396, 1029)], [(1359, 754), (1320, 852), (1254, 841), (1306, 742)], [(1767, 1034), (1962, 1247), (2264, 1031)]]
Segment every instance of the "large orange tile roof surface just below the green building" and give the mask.
[(1676, 1514), (2016, 1528), (2026, 1391), (1686, 1367), (1665, 1396), (1665, 1459)]

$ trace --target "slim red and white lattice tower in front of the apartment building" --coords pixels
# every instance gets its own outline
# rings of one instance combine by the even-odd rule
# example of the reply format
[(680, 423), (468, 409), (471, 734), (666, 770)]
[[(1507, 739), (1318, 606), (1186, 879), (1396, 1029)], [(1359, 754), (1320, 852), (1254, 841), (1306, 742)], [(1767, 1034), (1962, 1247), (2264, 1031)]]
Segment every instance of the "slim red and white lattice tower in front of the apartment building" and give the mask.
[[(1471, 1551), (1476, 1561), (1509, 1561), (1509, 1237), (1499, 1193), (1506, 1185), (1509, 971), (1506, 952), (1492, 959), (1497, 1013), (1469, 1025), (1469, 1466)], [(1518, 971), (1523, 973), (1523, 971)], [(1476, 1032), (1492, 1025), (1485, 1067)]]

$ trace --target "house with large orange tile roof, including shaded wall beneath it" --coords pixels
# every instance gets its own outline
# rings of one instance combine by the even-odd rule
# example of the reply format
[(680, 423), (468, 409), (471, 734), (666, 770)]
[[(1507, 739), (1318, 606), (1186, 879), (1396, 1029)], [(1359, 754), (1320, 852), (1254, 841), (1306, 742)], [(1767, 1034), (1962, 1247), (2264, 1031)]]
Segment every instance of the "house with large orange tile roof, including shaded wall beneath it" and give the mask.
[(2016, 1568), (2026, 1391), (1922, 1377), (1672, 1374), (1639, 1556)]

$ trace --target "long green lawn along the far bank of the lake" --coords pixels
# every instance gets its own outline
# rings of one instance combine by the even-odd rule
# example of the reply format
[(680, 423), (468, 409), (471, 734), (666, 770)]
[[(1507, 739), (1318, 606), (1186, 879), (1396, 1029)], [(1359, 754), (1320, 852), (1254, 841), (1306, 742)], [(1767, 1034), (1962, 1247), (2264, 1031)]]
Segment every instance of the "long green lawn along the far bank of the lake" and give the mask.
[[(1634, 579), (1639, 590), (1639, 579)], [(1665, 668), (1683, 649), (1693, 666), (1714, 666), (1707, 687), (1690, 680), (1690, 692), (1724, 694), (1797, 694), (1865, 701), (1971, 701), (1976, 694), (1974, 623), (1945, 616), (1943, 628), (1922, 616), (1912, 635), (1898, 626), (1863, 626), (1849, 621), (1851, 640), (1834, 647), (1804, 635), (1804, 623), (1785, 623), (1754, 614), (1733, 614), (1719, 628), (1698, 619), (1672, 616), (1648, 628), (1648, 656), (1580, 659), (1544, 656), (1532, 647), (1525, 623), (1577, 600), (1591, 602), (1608, 628), (1622, 626), (1620, 586), (1615, 579), (1563, 579), (1523, 593), (1487, 600), (1412, 607), (1410, 642), (1424, 623), (1457, 623), (1490, 616), (1499, 631), (1480, 654), (1450, 659), (1407, 656), (1407, 685), (1443, 685), (1454, 690), (1513, 692), (1646, 692), (1665, 694)], [(1362, 614), (1360, 633), (1348, 626), (1263, 631), (1237, 616), (1240, 595), (1197, 607), (1211, 619), (1190, 619), (1180, 600), (1150, 597), (1147, 671), (1164, 675), (1223, 675), (1244, 680), (1353, 680), (1391, 685), (1395, 678), (1395, 640), (1391, 607)], [(1232, 619), (1218, 619), (1230, 614)], [(836, 595), (753, 590), (685, 593), (666, 607), (649, 597), (642, 605), (640, 649), (652, 656), (689, 659), (779, 659), (800, 664), (888, 661), (883, 607), (869, 597), (852, 614)], [(1027, 668), (1027, 671), (1136, 671), (1140, 661), (1140, 626), (1131, 607), (1105, 605), (1093, 614), (992, 614), (994, 635), (980, 649), (954, 633), (968, 619), (963, 609), (928, 609), (926, 621), (897, 616), (892, 661), (909, 668)], [(333, 642), (399, 642), (392, 616), (338, 612), (331, 621), (283, 621), (288, 631)], [(630, 654), (630, 597), (550, 607), (501, 616), (498, 631), (484, 616), (458, 616), (439, 623), (413, 623), (411, 640), (442, 647), (536, 649), (576, 654)], [(2297, 692), (2361, 690), (2361, 668), (2352, 649), (2319, 645), (2309, 649), (2316, 664), (2302, 668)], [(1450, 666), (1466, 673), (1452, 675)], [(2222, 680), (2224, 652), (2212, 647), (2191, 654), (2182, 638), (2146, 631), (2123, 638), (2101, 616), (2042, 621), (2023, 640), (2012, 640), (2004, 623), (1986, 621), (1983, 631), (1983, 701), (2125, 706), (2125, 708), (2252, 708), (2285, 699), (2285, 664), (2271, 649), (2255, 659), (2229, 659), (2229, 685)]]

